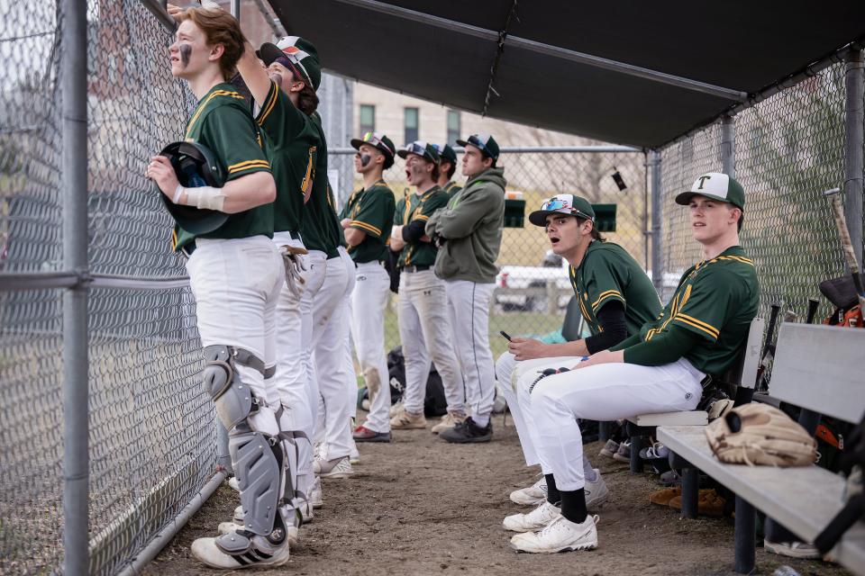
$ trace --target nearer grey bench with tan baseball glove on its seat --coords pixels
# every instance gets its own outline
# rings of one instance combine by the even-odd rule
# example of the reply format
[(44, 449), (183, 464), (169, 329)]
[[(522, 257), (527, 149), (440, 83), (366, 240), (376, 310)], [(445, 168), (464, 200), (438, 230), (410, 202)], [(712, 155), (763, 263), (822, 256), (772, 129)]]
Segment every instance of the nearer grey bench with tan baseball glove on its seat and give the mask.
[[(782, 324), (769, 392), (800, 408), (859, 423), (865, 411), (863, 355), (865, 330)], [(658, 428), (658, 439), (736, 494), (736, 572), (754, 570), (755, 509), (811, 543), (844, 504), (843, 478), (818, 466), (722, 464), (712, 454), (703, 427), (664, 426)], [(682, 498), (684, 508), (684, 494)], [(831, 555), (852, 572), (865, 574), (865, 523), (852, 527)]]

